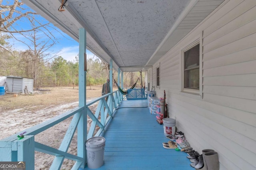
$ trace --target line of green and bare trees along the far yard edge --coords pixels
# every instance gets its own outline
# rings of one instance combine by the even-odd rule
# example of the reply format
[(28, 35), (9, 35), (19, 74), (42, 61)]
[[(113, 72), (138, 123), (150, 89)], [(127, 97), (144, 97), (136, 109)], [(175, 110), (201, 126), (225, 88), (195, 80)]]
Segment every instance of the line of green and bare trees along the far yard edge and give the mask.
[[(40, 57), (35, 60), (31, 53), (32, 51), (12, 51), (10, 54), (0, 50), (0, 76), (34, 78), (35, 88), (78, 86), (78, 57), (74, 61), (67, 61), (58, 56), (45, 62)], [(113, 74), (117, 81), (117, 71), (113, 70)], [(139, 76), (139, 72), (124, 72), (124, 87), (132, 86)], [(102, 85), (107, 79), (109, 65), (98, 57), (87, 59), (86, 86)], [(138, 82), (139, 86), (140, 81)]]

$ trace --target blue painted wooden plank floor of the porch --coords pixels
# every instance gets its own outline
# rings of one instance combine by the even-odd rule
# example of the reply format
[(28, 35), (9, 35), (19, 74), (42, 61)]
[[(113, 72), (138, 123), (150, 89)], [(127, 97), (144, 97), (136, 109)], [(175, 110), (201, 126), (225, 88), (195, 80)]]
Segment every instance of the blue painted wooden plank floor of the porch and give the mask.
[(123, 101), (104, 137), (104, 165), (98, 170), (194, 170), (185, 152), (163, 148), (168, 139), (147, 100)]

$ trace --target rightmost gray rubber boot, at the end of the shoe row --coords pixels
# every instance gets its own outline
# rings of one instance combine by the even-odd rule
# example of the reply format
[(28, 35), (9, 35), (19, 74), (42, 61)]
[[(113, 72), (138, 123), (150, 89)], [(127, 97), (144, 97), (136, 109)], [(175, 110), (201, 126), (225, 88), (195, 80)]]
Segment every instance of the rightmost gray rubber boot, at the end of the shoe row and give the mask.
[(219, 158), (218, 152), (206, 152), (204, 154), (208, 170), (219, 170)]

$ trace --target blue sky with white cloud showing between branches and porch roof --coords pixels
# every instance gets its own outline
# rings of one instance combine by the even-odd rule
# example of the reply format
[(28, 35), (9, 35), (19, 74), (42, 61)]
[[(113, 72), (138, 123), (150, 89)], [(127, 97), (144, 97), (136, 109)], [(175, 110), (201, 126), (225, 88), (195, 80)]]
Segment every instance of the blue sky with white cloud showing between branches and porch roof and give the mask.
[[(33, 11), (32, 9), (30, 9), (26, 5), (24, 5), (23, 7), (24, 7), (25, 10), (23, 10), (22, 12)], [(45, 20), (44, 18), (42, 18), (39, 15), (36, 17), (36, 20), (38, 20), (38, 21), (40, 21), (42, 23), (47, 23), (48, 22), (47, 20)], [(61, 56), (63, 59), (65, 59), (67, 61), (74, 61), (75, 57), (78, 56), (79, 43), (76, 42), (74, 39), (72, 39), (70, 36), (68, 36), (66, 33), (63, 33), (60, 29), (55, 27), (53, 24), (50, 24), (50, 26), (52, 27), (52, 28), (49, 27), (50, 32), (53, 33), (54, 36), (58, 40), (56, 42), (56, 44), (54, 44), (54, 46), (50, 49), (52, 54), (55, 54), (56, 57)], [(20, 29), (24, 29), (24, 30), (25, 29), (29, 29), (30, 28), (30, 23), (25, 18), (22, 18), (21, 20), (16, 21), (16, 23), (14, 24), (14, 28), (15, 29), (19, 29), (19, 30)], [(40, 36), (40, 33), (38, 33), (38, 35)], [(14, 34), (14, 36), (16, 37), (16, 39), (22, 40), (26, 44), (30, 43), (30, 41), (26, 37), (24, 37), (24, 36), (22, 36), (22, 35), (20, 35), (18, 33)], [(23, 51), (23, 50), (28, 49), (27, 45), (25, 45), (21, 41), (17, 41), (16, 39), (12, 38), (12, 39), (8, 40), (10, 45), (12, 45), (13, 49), (18, 50), (18, 51), (19, 50)], [(94, 57), (94, 54), (92, 54), (88, 50), (86, 50), (86, 54), (87, 54), (87, 59)], [(94, 58), (96, 58), (96, 57), (94, 57)]]

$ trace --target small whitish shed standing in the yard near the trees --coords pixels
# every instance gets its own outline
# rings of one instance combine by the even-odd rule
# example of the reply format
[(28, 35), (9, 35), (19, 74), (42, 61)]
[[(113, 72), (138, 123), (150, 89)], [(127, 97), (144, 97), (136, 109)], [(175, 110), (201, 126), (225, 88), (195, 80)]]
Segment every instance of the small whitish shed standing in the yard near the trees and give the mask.
[(6, 76), (7, 92), (24, 92), (27, 86), (28, 92), (33, 92), (33, 78)]

